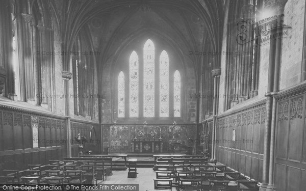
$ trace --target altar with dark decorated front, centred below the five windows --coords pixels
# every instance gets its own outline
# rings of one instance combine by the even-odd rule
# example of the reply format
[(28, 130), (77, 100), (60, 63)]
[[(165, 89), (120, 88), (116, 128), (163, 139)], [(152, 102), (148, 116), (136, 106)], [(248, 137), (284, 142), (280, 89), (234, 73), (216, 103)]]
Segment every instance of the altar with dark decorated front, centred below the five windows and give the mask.
[(162, 153), (162, 139), (132, 139), (133, 153)]

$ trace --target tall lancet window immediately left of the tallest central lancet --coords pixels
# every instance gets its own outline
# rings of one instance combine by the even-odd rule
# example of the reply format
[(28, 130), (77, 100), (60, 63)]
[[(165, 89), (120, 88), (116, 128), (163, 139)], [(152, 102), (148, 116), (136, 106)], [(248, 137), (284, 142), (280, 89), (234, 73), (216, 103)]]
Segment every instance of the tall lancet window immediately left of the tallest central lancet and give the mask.
[(135, 51), (130, 56), (130, 117), (138, 117), (139, 108), (139, 63)]

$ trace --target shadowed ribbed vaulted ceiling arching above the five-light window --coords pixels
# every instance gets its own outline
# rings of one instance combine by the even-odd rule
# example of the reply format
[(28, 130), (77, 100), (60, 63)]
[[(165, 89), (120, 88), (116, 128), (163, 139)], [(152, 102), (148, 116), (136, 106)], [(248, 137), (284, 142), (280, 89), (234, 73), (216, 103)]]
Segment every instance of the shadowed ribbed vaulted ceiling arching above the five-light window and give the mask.
[[(143, 34), (155, 34), (167, 41), (192, 63), (195, 70), (203, 58), (189, 51), (220, 51), (225, 1), (210, 0), (88, 0), (55, 1), (53, 8), (61, 26), (63, 48), (69, 51), (75, 36), (87, 29), (93, 48), (100, 53), (98, 68), (122, 46)], [(69, 57), (69, 56), (68, 56)], [(68, 63), (69, 58), (66, 58)], [(215, 67), (219, 66), (215, 60)]]

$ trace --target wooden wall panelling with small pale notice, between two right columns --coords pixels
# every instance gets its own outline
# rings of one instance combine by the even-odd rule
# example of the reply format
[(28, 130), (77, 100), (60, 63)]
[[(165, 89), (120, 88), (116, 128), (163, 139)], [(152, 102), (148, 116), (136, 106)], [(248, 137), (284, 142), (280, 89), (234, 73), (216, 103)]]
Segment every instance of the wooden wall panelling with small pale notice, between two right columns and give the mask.
[(265, 101), (222, 116), (217, 121), (217, 160), (262, 181)]

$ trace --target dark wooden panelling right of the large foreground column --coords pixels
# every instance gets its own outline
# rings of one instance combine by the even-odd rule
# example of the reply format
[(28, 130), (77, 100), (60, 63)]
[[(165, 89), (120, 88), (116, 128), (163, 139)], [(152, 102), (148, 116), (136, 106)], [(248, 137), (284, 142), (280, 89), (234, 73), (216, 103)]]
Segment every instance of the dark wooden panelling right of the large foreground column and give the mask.
[(274, 181), (277, 190), (304, 190), (305, 188), (306, 88), (304, 86), (294, 90), (280, 93), (276, 99)]

